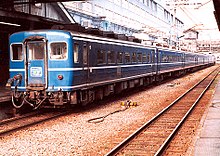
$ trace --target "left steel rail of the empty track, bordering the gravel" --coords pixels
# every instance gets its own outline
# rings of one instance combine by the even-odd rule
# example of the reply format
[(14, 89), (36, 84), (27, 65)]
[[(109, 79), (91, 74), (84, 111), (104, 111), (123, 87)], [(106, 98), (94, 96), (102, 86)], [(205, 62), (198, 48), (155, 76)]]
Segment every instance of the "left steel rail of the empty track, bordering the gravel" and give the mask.
[[(113, 156), (116, 155), (120, 150), (122, 150), (123, 147), (125, 147), (131, 140), (133, 140), (137, 135), (139, 135), (144, 129), (149, 127), (151, 123), (156, 121), (162, 114), (164, 114), (167, 110), (169, 110), (175, 103), (180, 101), (186, 94), (188, 94), (190, 91), (192, 91), (195, 87), (197, 87), (199, 84), (201, 84), (207, 77), (209, 77), (213, 72), (213, 70), (210, 72), (206, 77), (204, 77), (202, 80), (200, 80), (198, 83), (196, 83), (193, 87), (188, 89), (185, 93), (183, 93), (181, 96), (179, 96), (176, 100), (174, 100), (170, 105), (168, 105), (166, 108), (164, 108), (162, 111), (160, 111), (157, 115), (155, 115), (153, 118), (151, 118), (148, 122), (146, 122), (143, 126), (141, 126), (139, 129), (137, 129), (134, 133), (132, 133), (130, 136), (128, 136), (125, 140), (123, 140), (121, 143), (119, 143), (117, 146), (115, 146), (111, 151), (109, 151), (105, 156)], [(216, 74), (217, 75), (217, 74)], [(167, 139), (168, 140), (168, 139)], [(165, 147), (165, 145), (164, 145)], [(162, 147), (161, 147), (162, 148)]]

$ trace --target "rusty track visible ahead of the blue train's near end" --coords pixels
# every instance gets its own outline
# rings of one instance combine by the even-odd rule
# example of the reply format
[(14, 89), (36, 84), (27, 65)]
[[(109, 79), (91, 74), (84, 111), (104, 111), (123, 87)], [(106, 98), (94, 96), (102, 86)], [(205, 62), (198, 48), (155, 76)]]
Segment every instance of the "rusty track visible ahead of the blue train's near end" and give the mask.
[(32, 112), (20, 117), (6, 119), (0, 122), (0, 137), (9, 133), (34, 126), (36, 124), (49, 121), (64, 115), (69, 112)]

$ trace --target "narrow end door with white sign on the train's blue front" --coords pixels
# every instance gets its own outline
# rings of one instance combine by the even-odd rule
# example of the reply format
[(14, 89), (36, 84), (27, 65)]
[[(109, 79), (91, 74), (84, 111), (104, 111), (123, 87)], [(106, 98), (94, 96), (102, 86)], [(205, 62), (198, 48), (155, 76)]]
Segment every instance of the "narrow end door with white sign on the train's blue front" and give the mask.
[(28, 89), (44, 90), (47, 87), (46, 41), (26, 42), (26, 86)]

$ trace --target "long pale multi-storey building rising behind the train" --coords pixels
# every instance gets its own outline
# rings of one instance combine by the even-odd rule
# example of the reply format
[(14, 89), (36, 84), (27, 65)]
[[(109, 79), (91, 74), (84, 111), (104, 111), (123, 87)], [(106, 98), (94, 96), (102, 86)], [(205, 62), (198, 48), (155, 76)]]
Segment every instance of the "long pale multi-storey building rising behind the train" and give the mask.
[(64, 2), (68, 12), (84, 27), (136, 36), (145, 44), (176, 45), (184, 23), (162, 0), (92, 0)]

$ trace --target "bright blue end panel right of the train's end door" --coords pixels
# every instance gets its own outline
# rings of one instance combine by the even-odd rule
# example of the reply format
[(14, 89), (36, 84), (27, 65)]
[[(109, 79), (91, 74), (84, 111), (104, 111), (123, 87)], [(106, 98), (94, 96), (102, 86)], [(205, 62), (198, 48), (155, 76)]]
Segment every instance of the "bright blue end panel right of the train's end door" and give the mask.
[(73, 43), (69, 33), (48, 33), (48, 90), (70, 91), (74, 78)]

